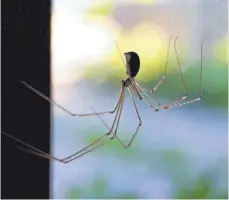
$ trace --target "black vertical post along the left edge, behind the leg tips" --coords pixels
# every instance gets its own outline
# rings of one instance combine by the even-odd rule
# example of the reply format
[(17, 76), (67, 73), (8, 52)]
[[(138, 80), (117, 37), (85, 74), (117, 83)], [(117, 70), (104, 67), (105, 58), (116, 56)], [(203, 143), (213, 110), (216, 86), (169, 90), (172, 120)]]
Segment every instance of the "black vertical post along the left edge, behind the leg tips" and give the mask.
[[(23, 87), (22, 79), (50, 94), (50, 0), (2, 1), (1, 129), (46, 152), (50, 105)], [(1, 137), (1, 198), (49, 198), (49, 161)]]

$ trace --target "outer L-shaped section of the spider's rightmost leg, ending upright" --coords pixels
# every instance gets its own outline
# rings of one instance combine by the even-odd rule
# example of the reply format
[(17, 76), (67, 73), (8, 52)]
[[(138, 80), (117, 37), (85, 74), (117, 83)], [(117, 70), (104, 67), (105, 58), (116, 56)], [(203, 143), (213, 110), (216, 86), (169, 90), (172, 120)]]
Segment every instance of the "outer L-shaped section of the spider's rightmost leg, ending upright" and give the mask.
[(204, 40), (201, 43), (201, 48), (200, 48), (200, 88), (199, 88), (199, 97), (192, 99), (192, 100), (187, 100), (183, 103), (180, 104), (173, 104), (172, 106), (170, 106), (170, 108), (174, 108), (177, 106), (183, 106), (186, 104), (190, 104), (190, 103), (194, 103), (196, 101), (199, 101), (203, 98), (203, 44), (204, 44)]

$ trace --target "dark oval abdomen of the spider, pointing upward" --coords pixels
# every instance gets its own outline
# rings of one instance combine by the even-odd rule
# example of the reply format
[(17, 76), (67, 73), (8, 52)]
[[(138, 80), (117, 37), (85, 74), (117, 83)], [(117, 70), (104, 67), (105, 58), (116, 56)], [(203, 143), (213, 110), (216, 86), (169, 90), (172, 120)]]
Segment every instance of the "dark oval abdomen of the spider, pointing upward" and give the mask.
[[(127, 75), (135, 77), (138, 74), (140, 68), (140, 58), (136, 52), (130, 51), (124, 53), (126, 58)], [(129, 73), (128, 73), (129, 72)]]

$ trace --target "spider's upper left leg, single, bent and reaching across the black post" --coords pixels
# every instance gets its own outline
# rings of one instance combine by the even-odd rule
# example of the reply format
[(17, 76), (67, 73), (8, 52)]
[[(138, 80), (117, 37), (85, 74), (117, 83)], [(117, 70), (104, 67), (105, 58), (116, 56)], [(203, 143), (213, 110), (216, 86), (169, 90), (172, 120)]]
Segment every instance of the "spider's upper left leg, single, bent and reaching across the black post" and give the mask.
[(115, 108), (111, 111), (105, 111), (105, 112), (98, 112), (98, 113), (83, 113), (83, 114), (76, 114), (76, 113), (73, 113), (69, 110), (67, 110), (66, 108), (64, 108), (63, 106), (61, 106), (60, 104), (56, 103), (55, 101), (53, 101), (52, 99), (50, 99), (49, 97), (47, 97), (46, 95), (44, 95), (43, 93), (41, 93), (40, 91), (38, 91), (37, 89), (35, 89), (34, 87), (32, 87), (31, 85), (29, 85), (28, 83), (26, 83), (25, 81), (20, 81), (24, 86), (26, 86), (27, 88), (29, 88), (30, 90), (32, 90), (33, 92), (35, 92), (36, 94), (38, 94), (39, 96), (41, 96), (43, 99), (45, 99), (46, 101), (48, 101), (49, 103), (57, 106), (58, 108), (60, 108), (61, 110), (63, 110), (64, 112), (72, 115), (72, 116), (78, 116), (78, 117), (83, 117), (83, 116), (92, 116), (92, 115), (103, 115), (103, 114), (112, 114), (114, 113), (116, 110), (117, 110), (117, 107), (118, 107), (118, 104), (119, 104), (119, 101), (120, 101), (120, 98), (121, 98), (121, 93), (120, 93), (120, 96), (119, 96), (119, 99), (115, 105)]

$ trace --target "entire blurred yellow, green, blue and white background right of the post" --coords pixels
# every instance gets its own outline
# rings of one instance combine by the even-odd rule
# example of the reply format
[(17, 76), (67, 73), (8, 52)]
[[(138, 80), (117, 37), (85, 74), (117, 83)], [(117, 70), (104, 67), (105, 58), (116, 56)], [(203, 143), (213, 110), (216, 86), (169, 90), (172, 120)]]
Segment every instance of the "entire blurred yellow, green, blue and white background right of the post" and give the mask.
[[(67, 165), (52, 162), (53, 198), (227, 199), (228, 37), (226, 0), (53, 0), (52, 96), (67, 109), (110, 110), (125, 67), (122, 54), (141, 58), (137, 79), (152, 88), (163, 74), (169, 37), (177, 48), (188, 97), (200, 102), (153, 112), (136, 98), (143, 125), (126, 150), (116, 140)], [(154, 95), (183, 95), (174, 48), (168, 79)], [(104, 115), (110, 125), (113, 116)], [(118, 135), (128, 141), (138, 119), (127, 97)], [(64, 157), (106, 133), (97, 116), (71, 117), (52, 107), (52, 153)]]

